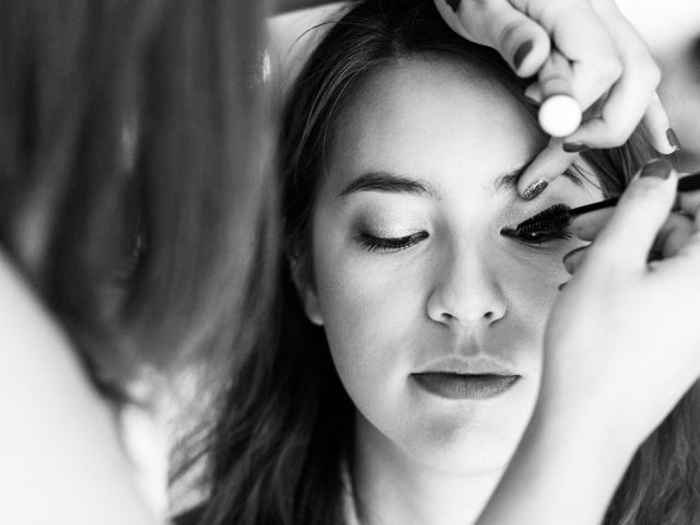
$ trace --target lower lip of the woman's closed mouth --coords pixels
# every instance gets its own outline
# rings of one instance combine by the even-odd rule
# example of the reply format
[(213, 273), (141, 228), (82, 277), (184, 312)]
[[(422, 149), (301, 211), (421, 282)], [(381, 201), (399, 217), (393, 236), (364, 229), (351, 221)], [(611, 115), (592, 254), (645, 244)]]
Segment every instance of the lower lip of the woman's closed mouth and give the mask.
[(520, 375), (493, 374), (412, 374), (423, 389), (447, 399), (490, 399), (513, 386)]

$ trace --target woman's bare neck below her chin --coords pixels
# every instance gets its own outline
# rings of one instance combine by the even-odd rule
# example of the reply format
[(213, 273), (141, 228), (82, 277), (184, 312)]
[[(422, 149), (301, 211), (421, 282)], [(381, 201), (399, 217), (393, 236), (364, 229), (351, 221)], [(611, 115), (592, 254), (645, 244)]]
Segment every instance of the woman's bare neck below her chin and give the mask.
[(467, 525), (476, 522), (503, 469), (454, 474), (433, 469), (399, 450), (358, 416), (353, 460), (362, 525)]

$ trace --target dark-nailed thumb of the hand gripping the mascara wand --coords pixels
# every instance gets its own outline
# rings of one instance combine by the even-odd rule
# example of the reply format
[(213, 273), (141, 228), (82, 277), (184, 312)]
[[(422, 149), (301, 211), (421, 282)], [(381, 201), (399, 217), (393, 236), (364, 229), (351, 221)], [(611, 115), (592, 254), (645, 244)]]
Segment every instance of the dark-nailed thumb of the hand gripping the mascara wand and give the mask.
[(646, 267), (649, 252), (676, 197), (678, 177), (665, 159), (655, 159), (639, 173), (617, 205), (607, 226), (591, 248), (606, 266)]

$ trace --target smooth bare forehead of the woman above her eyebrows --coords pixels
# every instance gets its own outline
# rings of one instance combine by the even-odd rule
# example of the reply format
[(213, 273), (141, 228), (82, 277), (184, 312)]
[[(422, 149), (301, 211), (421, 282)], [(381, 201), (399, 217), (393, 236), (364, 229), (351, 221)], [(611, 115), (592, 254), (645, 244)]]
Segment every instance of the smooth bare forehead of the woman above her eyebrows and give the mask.
[(410, 58), (371, 74), (334, 129), (331, 179), (368, 171), (421, 178), (462, 170), (498, 177), (544, 144), (498, 79), (454, 59)]

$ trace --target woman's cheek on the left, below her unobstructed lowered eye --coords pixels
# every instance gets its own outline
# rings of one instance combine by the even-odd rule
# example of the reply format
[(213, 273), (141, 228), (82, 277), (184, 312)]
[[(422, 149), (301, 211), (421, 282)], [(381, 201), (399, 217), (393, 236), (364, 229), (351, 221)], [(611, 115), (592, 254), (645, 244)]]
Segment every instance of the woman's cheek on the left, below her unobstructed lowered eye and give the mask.
[[(331, 242), (332, 244), (332, 242)], [(407, 370), (411, 326), (423, 293), (406, 271), (387, 271), (382, 256), (318, 244), (314, 271), (326, 337), (338, 373), (352, 393), (396, 385)]]

